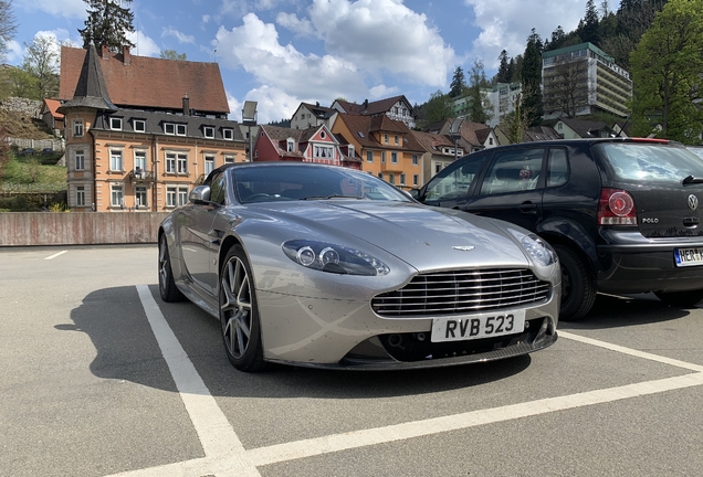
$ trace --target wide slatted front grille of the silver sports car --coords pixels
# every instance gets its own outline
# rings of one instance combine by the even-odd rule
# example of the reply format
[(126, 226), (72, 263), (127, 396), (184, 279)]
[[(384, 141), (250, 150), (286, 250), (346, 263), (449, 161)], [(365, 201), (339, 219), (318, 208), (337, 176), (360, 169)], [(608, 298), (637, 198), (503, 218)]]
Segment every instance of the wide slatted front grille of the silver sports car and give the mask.
[(463, 315), (533, 305), (546, 300), (550, 289), (528, 269), (436, 272), (374, 297), (371, 307), (382, 317)]

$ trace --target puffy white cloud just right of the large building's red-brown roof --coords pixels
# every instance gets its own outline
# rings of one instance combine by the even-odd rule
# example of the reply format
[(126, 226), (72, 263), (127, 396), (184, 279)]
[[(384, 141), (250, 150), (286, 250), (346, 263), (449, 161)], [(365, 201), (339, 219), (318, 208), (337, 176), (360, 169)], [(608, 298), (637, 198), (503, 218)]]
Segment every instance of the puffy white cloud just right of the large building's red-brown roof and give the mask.
[(281, 45), (275, 25), (262, 22), (254, 13), (246, 14), (241, 26), (221, 26), (216, 38), (213, 44), (221, 64), (233, 70), (243, 67), (263, 85), (262, 91), (267, 87), (285, 92), (298, 102), (332, 102), (340, 95), (363, 96), (367, 91), (354, 64), (332, 55), (305, 55), (291, 44)]

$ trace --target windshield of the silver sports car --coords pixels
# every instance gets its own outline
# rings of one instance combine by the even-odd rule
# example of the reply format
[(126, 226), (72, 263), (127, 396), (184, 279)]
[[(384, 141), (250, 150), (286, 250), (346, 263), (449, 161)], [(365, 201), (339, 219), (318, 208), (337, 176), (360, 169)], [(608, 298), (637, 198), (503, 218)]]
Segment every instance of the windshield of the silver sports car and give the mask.
[(394, 186), (371, 174), (334, 166), (262, 165), (234, 171), (241, 203), (291, 200), (377, 200), (409, 202)]

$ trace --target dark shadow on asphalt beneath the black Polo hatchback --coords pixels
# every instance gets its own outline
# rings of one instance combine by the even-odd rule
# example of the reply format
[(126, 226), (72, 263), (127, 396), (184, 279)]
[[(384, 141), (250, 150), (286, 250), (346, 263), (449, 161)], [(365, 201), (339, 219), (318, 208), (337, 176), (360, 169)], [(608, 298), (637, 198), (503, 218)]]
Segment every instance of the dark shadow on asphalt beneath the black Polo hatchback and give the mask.
[(558, 329), (620, 328), (671, 321), (686, 317), (690, 309), (667, 305), (653, 294), (605, 295), (598, 294), (588, 315), (578, 321), (559, 321)]

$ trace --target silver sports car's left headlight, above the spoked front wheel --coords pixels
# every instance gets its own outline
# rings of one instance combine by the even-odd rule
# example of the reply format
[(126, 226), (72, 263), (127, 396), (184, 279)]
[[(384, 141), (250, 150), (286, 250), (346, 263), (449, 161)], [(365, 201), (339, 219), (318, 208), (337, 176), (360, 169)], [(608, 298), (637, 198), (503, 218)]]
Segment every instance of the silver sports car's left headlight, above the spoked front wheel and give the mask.
[(356, 248), (326, 242), (292, 240), (283, 243), (283, 252), (306, 268), (349, 275), (386, 275), (388, 265)]

